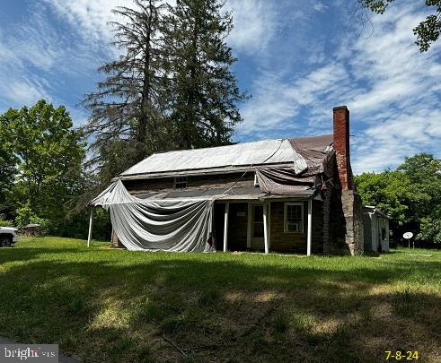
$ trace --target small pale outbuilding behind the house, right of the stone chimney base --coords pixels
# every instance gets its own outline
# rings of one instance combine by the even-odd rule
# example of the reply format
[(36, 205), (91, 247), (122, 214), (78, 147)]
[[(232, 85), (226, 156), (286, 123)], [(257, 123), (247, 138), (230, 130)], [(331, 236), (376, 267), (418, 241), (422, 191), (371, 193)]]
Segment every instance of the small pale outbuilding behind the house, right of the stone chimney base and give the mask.
[(391, 217), (379, 209), (363, 206), (363, 226), (366, 252), (389, 251), (389, 220)]

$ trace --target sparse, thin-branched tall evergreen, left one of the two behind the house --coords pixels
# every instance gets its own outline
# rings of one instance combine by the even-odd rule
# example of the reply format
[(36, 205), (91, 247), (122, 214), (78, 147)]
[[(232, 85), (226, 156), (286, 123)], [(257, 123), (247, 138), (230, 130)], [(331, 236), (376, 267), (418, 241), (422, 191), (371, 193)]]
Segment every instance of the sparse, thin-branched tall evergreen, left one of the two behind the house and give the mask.
[(115, 31), (113, 45), (122, 55), (99, 69), (106, 79), (98, 91), (84, 99), (92, 111), (86, 135), (93, 135), (95, 156), (92, 163), (102, 166), (102, 153), (119, 140), (125, 140), (127, 164), (133, 165), (167, 146), (163, 123), (162, 22), (158, 0), (134, 0), (135, 8), (120, 6), (112, 12), (121, 22), (111, 22)]

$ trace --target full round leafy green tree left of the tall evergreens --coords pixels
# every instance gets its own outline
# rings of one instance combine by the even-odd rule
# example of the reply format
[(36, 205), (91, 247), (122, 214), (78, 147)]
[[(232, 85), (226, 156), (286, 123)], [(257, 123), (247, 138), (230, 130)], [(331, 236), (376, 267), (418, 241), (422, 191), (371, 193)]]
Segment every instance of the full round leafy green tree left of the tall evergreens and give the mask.
[(73, 129), (66, 108), (43, 99), (31, 108), (10, 108), (2, 119), (18, 160), (9, 199), (23, 223), (50, 220), (56, 229), (66, 218), (66, 203), (81, 192), (83, 134)]

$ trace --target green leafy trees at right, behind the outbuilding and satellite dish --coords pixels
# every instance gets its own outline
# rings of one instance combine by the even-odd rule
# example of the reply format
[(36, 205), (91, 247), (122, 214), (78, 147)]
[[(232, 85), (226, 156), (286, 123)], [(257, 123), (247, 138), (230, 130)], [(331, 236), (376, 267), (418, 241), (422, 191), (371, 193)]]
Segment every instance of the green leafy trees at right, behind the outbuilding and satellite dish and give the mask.
[(355, 180), (363, 203), (391, 215), (396, 242), (410, 230), (422, 246), (441, 244), (441, 160), (423, 152), (395, 170), (363, 173)]

